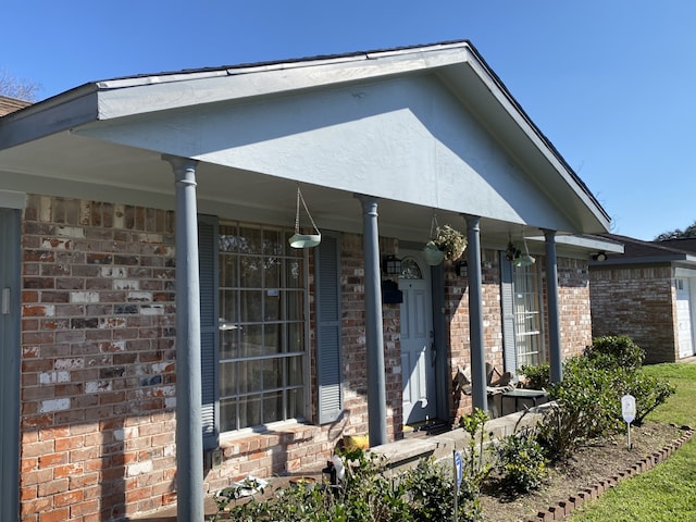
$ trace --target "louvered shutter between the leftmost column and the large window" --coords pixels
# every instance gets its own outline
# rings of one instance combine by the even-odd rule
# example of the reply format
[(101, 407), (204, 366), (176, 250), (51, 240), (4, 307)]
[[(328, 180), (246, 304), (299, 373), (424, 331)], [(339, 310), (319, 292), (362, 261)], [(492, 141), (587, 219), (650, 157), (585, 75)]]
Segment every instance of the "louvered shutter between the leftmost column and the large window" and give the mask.
[(200, 277), (200, 350), (201, 350), (201, 421), (203, 449), (219, 444), (217, 363), (219, 330), (219, 257), (217, 219), (199, 216), (198, 263)]

